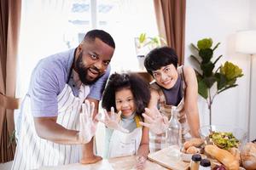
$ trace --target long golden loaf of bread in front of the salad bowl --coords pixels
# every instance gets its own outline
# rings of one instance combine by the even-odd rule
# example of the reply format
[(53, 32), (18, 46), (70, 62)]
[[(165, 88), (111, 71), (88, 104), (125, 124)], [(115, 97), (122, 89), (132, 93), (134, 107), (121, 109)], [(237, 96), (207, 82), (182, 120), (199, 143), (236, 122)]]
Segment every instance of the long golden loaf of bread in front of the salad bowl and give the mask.
[(239, 161), (228, 150), (218, 148), (216, 145), (207, 144), (205, 146), (205, 152), (212, 156), (212, 158), (220, 161), (229, 170), (238, 170)]

